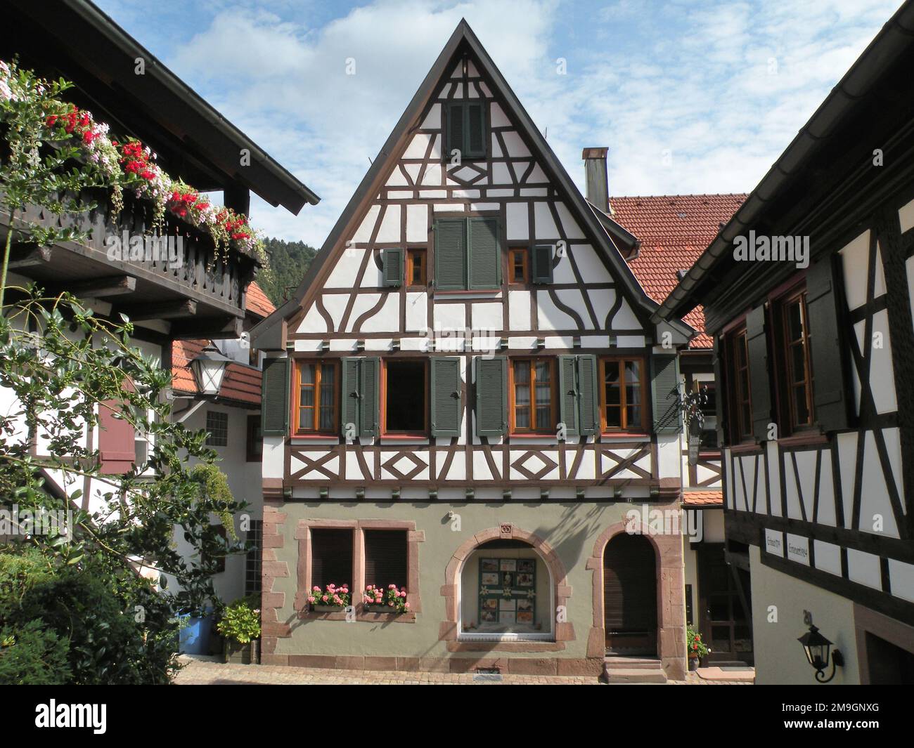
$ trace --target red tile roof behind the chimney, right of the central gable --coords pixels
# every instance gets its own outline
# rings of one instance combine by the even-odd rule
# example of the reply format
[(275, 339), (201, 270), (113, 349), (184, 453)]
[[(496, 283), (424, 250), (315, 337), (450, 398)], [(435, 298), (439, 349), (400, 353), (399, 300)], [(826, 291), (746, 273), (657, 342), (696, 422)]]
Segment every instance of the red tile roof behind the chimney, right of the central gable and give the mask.
[[(692, 267), (748, 195), (647, 195), (611, 197), (612, 218), (641, 240), (629, 261), (644, 292), (661, 303), (679, 281), (678, 270)], [(690, 348), (710, 348), (701, 306), (683, 318), (698, 331)]]

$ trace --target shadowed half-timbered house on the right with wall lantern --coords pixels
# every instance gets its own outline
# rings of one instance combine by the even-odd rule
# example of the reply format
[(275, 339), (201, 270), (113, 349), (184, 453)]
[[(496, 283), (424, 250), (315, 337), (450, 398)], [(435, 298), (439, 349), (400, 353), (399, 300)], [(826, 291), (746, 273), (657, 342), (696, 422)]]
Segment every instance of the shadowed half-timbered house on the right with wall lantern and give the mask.
[(656, 315), (714, 338), (763, 683), (914, 677), (912, 32), (907, 2)]

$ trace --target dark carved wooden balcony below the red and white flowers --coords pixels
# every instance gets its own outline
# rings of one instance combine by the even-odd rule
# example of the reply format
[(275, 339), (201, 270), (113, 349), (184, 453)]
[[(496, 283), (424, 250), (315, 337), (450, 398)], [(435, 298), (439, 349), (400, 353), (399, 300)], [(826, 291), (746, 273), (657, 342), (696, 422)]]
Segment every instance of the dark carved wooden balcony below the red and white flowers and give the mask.
[[(16, 213), (19, 230), (32, 224), (72, 227), (88, 236), (52, 247), (16, 242), (11, 273), (35, 280), (48, 292), (70, 290), (108, 301), (112, 314), (122, 312), (133, 321), (168, 321), (172, 338), (238, 337), (257, 258), (235, 246), (225, 260), (217, 258), (208, 234), (170, 214), (165, 227), (154, 230), (149, 200), (125, 194), (124, 208), (115, 215), (105, 193), (80, 197), (97, 207), (65, 216), (41, 206), (30, 206), (25, 216)], [(2, 214), (0, 241), (8, 230), (9, 215)]]

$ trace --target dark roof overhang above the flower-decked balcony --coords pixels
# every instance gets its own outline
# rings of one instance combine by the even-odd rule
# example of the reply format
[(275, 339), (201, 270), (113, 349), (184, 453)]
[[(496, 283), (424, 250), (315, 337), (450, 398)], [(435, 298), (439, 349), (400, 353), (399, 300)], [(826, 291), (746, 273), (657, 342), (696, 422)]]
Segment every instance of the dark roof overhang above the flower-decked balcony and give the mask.
[[(293, 214), (320, 200), (98, 6), (89, 0), (53, 5), (5, 3), (0, 55), (19, 53), (22, 64), (41, 75), (72, 80), (77, 103), (107, 117), (114, 131), (146, 142), (168, 170), (199, 190), (242, 186)], [(135, 73), (137, 59), (143, 59), (143, 75)], [(240, 165), (241, 149), (249, 149), (250, 165)]]

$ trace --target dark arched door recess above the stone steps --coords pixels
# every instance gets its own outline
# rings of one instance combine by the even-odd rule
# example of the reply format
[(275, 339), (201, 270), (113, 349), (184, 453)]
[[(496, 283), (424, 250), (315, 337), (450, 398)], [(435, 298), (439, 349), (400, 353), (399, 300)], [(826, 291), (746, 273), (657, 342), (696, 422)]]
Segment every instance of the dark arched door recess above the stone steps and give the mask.
[(657, 654), (657, 564), (643, 535), (622, 533), (606, 544), (603, 628), (607, 652)]

